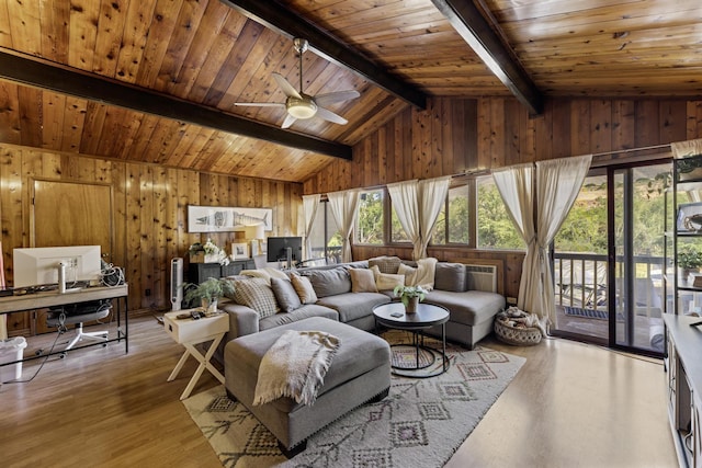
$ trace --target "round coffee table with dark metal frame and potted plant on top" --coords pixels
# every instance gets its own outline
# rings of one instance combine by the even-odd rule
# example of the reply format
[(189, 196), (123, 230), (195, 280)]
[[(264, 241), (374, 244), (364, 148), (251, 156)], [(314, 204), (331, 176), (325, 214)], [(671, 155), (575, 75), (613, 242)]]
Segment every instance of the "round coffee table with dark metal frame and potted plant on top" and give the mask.
[[(393, 374), (405, 377), (426, 378), (435, 377), (449, 369), (449, 358), (446, 357), (446, 322), (449, 321), (449, 309), (434, 304), (419, 303), (417, 312), (407, 313), (403, 303), (389, 303), (375, 306), (373, 308), (375, 324), (387, 327), (394, 330), (405, 330), (412, 332), (412, 345), (415, 346), (415, 363), (412, 367), (393, 365)], [(441, 351), (424, 345), (424, 335), (418, 332), (441, 326)], [(397, 345), (394, 345), (397, 346)], [(433, 359), (420, 364), (419, 353), (424, 350), (431, 353)], [(440, 354), (442, 365), (439, 370), (429, 374), (418, 375), (417, 370), (431, 366), (435, 361), (434, 353)]]

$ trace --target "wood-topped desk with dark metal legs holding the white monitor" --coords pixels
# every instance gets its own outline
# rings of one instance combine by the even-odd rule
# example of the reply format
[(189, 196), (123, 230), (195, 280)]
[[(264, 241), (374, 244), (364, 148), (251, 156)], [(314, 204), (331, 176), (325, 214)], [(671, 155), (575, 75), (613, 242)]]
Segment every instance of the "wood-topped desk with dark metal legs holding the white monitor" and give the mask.
[[(128, 306), (127, 296), (129, 295), (129, 287), (127, 284), (123, 284), (114, 287), (95, 286), (87, 287), (80, 290), (60, 294), (57, 290), (49, 290), (45, 293), (25, 294), (21, 296), (4, 296), (0, 297), (0, 315), (23, 312), (25, 310), (44, 309), (47, 307), (65, 306), (68, 304), (88, 303), (91, 300), (100, 299), (123, 299), (124, 300), (124, 330), (122, 329), (122, 308), (117, 304), (117, 336), (111, 341), (122, 341), (124, 339), (124, 352), (129, 352), (129, 344), (127, 342), (127, 328), (128, 328)], [(97, 344), (103, 344), (100, 342)], [(92, 346), (89, 344), (87, 346)], [(87, 347), (81, 346), (81, 347)], [(58, 353), (58, 352), (57, 352)], [(25, 357), (23, 361), (33, 359), (41, 356)], [(10, 365), (16, 363), (5, 363), (2, 365)]]

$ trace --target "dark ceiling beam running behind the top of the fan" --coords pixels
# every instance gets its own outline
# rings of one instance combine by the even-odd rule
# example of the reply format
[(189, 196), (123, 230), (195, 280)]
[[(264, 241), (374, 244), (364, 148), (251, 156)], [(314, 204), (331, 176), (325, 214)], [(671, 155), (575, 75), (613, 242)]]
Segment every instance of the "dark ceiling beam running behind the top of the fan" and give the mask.
[(326, 60), (351, 70), (420, 110), (427, 109), (427, 94), (419, 88), (390, 75), (287, 7), (275, 1), (220, 1), (282, 36), (307, 39), (309, 48)]

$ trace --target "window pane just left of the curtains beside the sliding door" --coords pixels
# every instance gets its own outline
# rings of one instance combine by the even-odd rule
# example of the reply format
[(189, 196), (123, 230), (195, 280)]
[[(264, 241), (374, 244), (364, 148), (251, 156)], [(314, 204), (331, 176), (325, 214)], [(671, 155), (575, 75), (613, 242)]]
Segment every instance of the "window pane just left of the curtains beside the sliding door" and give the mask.
[(522, 240), (491, 175), (478, 178), (478, 244), (479, 249), (520, 249)]

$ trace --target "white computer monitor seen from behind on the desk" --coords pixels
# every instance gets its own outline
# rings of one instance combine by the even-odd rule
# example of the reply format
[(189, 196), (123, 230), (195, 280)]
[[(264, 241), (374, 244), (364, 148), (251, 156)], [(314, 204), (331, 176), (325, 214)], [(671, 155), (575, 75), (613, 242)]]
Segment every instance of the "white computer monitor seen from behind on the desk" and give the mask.
[(38, 247), (12, 252), (13, 287), (58, 283), (59, 262), (66, 264), (66, 283), (100, 281), (100, 246)]

